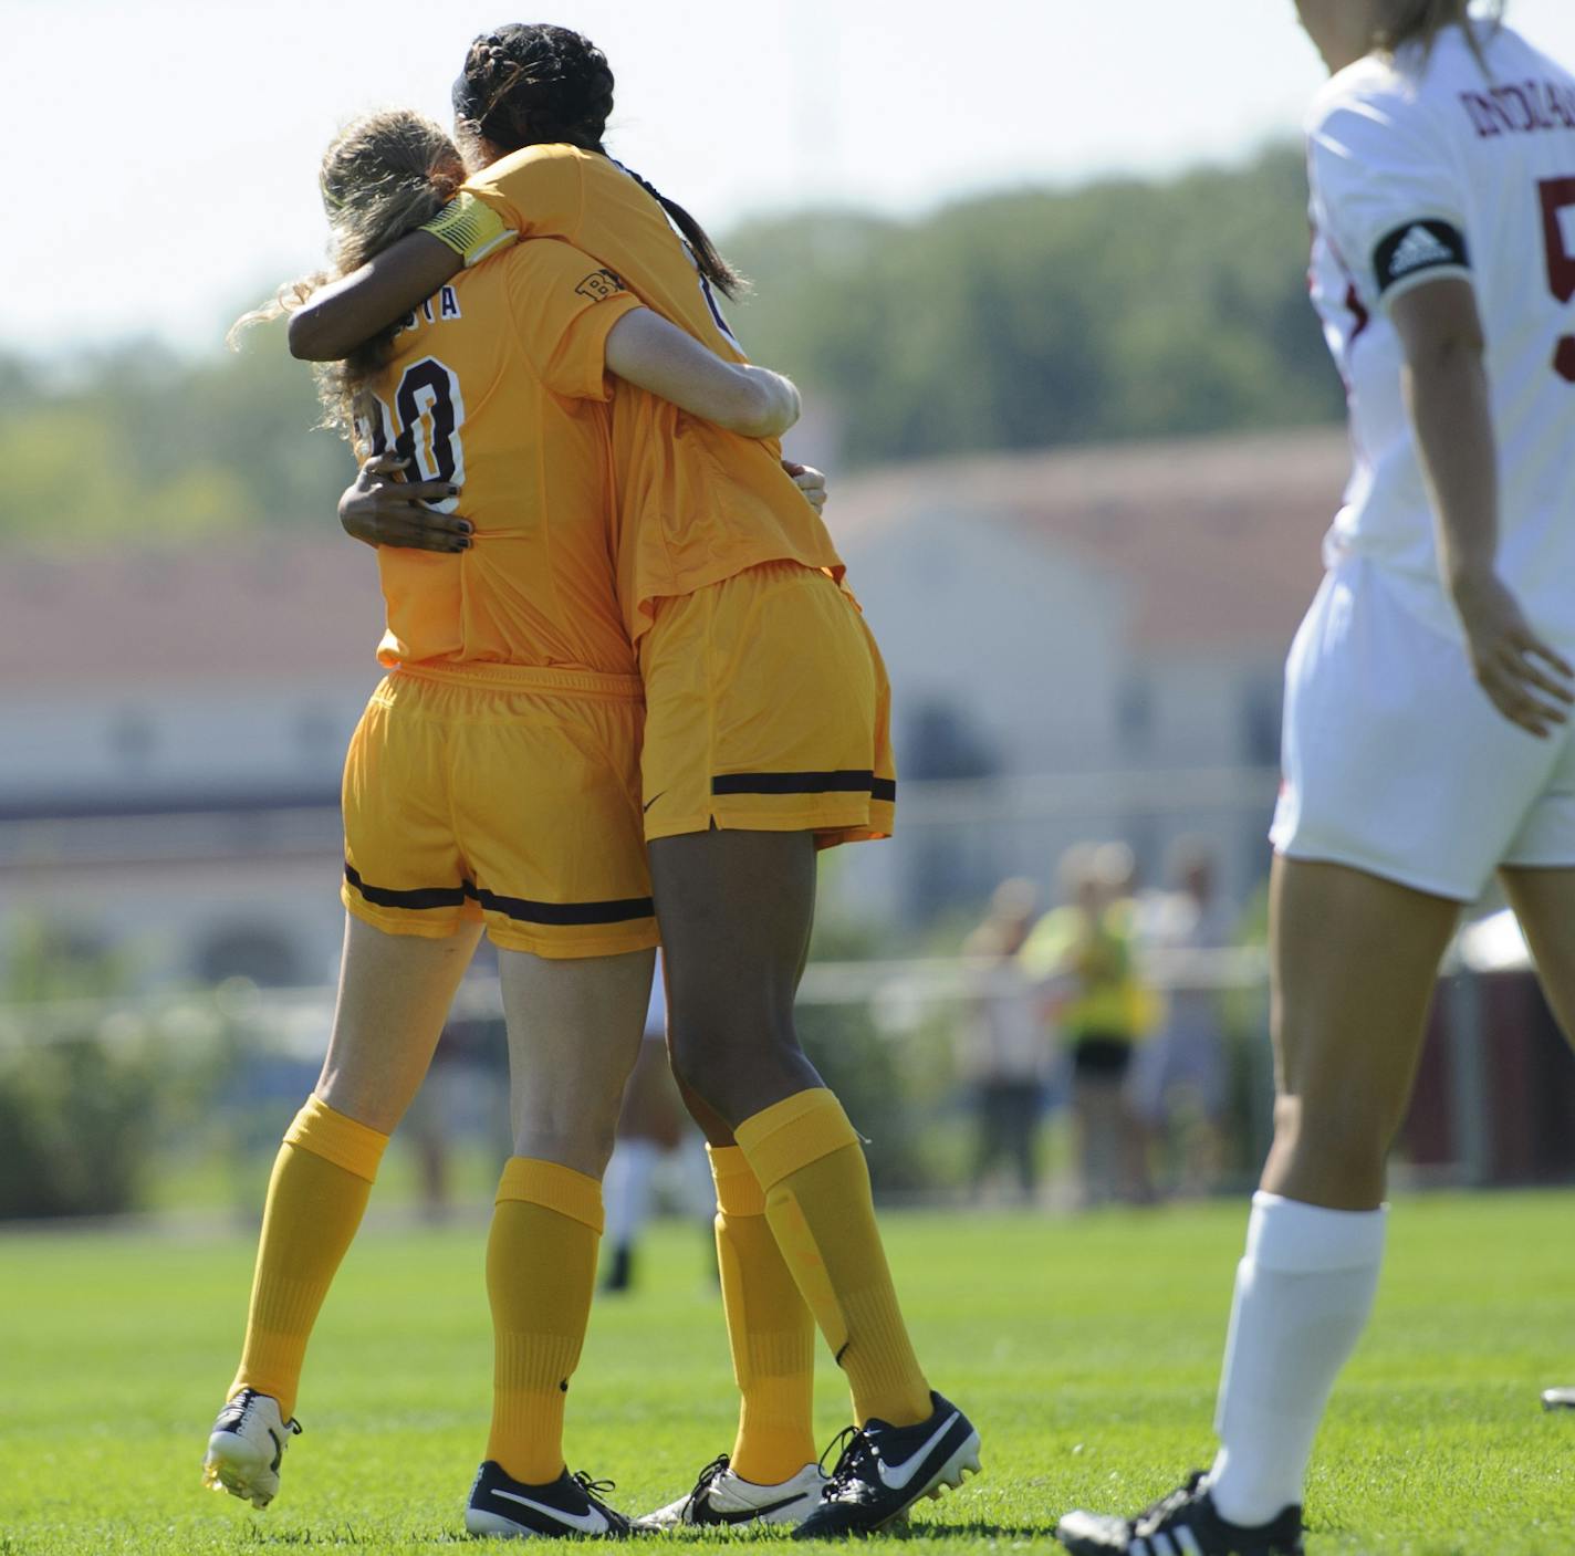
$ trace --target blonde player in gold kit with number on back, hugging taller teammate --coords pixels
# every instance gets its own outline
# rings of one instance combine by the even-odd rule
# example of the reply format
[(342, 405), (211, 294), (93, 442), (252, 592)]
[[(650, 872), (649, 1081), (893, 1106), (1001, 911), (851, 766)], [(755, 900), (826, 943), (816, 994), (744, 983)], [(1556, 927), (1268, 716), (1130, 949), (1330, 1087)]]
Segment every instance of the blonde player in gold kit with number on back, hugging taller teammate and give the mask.
[[(339, 268), (419, 227), (461, 176), (419, 115), (351, 124), (321, 172)], [(611, 561), (614, 381), (751, 435), (797, 416), (786, 380), (723, 362), (565, 243), (455, 277), (323, 375), (362, 450), (408, 460), (441, 507), (463, 485), (466, 518), (438, 515), (443, 554), (378, 553), (389, 674), (345, 765), (339, 1003), (274, 1165), (241, 1364), (205, 1458), (209, 1485), (255, 1506), (279, 1488), (312, 1326), (485, 931), (513, 1154), (488, 1241), (493, 1421), (466, 1526), (628, 1529), (562, 1452), (657, 940), (643, 687)]]

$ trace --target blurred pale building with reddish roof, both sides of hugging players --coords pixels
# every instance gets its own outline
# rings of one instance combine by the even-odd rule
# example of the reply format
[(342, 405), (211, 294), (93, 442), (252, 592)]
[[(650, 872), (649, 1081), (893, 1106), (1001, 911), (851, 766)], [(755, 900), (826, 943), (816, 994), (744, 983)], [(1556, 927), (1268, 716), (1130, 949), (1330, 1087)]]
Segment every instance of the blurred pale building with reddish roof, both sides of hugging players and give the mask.
[[(1202, 832), (1244, 891), (1343, 474), (1343, 436), (1318, 430), (835, 480), (906, 795), (899, 839), (843, 850), (838, 890), (914, 921), (1008, 874), (1047, 884), (1079, 838), (1125, 836), (1151, 874)], [(378, 621), (372, 558), (337, 534), (11, 561), (0, 939), (38, 913), (124, 948), (143, 983), (329, 978), (339, 772)]]

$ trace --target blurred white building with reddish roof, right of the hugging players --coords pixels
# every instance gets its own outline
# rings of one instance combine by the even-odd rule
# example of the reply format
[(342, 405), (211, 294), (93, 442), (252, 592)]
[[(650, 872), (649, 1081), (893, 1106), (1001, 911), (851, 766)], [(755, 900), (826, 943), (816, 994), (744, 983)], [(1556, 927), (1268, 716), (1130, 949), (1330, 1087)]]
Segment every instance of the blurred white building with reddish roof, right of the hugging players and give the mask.
[(1268, 868), (1285, 650), (1347, 469), (1343, 433), (1317, 428), (833, 483), (912, 802), (898, 847), (844, 865), (849, 890), (926, 918), (1010, 874), (1047, 885), (1087, 836), (1126, 838), (1153, 879), (1189, 832), (1240, 899)]

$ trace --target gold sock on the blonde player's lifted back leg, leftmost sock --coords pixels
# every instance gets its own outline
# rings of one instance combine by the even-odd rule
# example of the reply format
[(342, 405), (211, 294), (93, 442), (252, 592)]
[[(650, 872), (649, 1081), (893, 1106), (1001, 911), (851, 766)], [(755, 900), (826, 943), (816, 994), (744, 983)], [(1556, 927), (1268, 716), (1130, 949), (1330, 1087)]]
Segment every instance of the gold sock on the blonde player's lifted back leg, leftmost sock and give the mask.
[(241, 1370), (230, 1384), (279, 1400), (295, 1414), (301, 1362), (318, 1309), (350, 1247), (378, 1175), (386, 1134), (335, 1113), (315, 1093), (285, 1131), (274, 1159), (257, 1247)]

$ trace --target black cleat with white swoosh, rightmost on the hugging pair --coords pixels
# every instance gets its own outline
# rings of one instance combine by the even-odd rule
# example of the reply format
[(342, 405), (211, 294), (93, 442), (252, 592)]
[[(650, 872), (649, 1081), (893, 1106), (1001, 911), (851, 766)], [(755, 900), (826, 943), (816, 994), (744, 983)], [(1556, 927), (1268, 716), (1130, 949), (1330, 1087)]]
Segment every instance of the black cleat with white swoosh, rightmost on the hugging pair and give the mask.
[[(795, 1540), (835, 1540), (874, 1534), (901, 1518), (921, 1496), (940, 1496), (978, 1474), (980, 1435), (950, 1400), (931, 1392), (936, 1406), (914, 1427), (893, 1427), (871, 1417), (847, 1427), (832, 1444), (841, 1446), (821, 1506), (794, 1529)], [(827, 1449), (830, 1452), (830, 1449)]]

